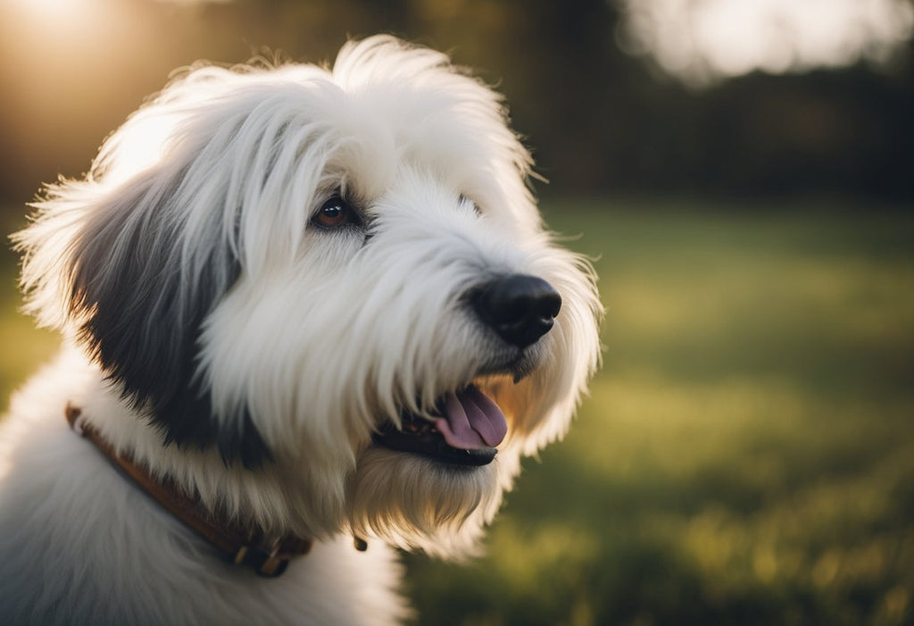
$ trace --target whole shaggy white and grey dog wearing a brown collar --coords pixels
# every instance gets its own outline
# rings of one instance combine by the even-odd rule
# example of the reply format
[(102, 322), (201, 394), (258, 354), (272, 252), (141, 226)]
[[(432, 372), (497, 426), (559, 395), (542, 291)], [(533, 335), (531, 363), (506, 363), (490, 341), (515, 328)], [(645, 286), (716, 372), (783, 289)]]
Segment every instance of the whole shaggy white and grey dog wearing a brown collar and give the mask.
[(386, 624), (599, 366), (503, 99), (377, 36), (197, 65), (16, 233), (64, 347), (0, 423), (0, 622)]

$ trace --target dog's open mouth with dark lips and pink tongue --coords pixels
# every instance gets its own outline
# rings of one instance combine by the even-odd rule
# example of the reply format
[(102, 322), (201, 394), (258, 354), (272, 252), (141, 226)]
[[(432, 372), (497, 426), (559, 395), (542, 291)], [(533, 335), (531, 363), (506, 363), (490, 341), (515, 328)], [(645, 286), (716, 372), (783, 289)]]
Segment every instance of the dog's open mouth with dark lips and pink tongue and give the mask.
[(505, 414), (492, 398), (470, 385), (443, 396), (438, 407), (433, 419), (403, 414), (402, 429), (388, 422), (375, 443), (453, 465), (491, 463), (508, 430)]

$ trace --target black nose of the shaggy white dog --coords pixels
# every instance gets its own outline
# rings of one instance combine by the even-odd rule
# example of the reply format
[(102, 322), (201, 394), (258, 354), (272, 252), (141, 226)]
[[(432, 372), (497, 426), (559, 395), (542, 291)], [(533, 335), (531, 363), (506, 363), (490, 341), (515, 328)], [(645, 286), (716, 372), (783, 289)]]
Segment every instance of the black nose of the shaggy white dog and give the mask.
[(552, 328), (562, 299), (547, 281), (509, 274), (473, 291), (473, 308), (495, 333), (511, 345), (525, 348)]

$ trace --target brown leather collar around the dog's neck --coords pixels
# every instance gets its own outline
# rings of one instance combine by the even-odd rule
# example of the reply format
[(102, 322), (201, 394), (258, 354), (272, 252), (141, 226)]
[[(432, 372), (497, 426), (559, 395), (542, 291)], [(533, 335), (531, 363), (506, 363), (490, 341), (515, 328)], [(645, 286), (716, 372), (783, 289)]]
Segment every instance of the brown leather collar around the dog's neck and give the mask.
[(133, 462), (128, 456), (118, 454), (110, 443), (101, 438), (98, 430), (80, 419), (82, 409), (68, 403), (64, 413), (75, 432), (95, 444), (115, 467), (132, 478), (134, 483), (172, 515), (195, 530), (197, 535), (215, 546), (230, 562), (246, 565), (261, 576), (273, 578), (285, 571), (292, 557), (307, 554), (311, 549), (310, 539), (283, 536), (270, 541), (260, 533), (252, 533), (235, 525), (220, 524), (200, 504), (197, 497), (180, 491), (169, 479), (156, 479), (148, 468)]

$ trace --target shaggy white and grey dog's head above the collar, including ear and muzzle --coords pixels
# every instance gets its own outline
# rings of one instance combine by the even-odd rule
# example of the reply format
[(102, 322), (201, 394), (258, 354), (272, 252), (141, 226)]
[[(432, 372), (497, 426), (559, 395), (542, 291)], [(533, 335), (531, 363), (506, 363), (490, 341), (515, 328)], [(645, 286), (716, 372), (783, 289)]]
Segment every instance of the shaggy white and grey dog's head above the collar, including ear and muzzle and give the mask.
[(288, 524), (447, 553), (598, 359), (529, 165), (492, 91), (389, 37), (196, 69), (49, 191), (24, 283), (166, 441), (281, 476)]

